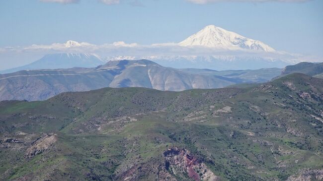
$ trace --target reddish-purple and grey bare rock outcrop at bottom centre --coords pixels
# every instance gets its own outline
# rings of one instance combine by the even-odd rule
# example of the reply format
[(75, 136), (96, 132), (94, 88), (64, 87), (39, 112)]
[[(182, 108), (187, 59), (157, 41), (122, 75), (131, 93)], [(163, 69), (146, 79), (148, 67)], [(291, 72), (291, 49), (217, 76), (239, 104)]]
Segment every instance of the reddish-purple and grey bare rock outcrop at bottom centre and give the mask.
[(170, 148), (163, 152), (165, 158), (165, 169), (173, 174), (186, 173), (189, 178), (195, 181), (218, 181), (210, 169), (197, 160), (188, 150)]

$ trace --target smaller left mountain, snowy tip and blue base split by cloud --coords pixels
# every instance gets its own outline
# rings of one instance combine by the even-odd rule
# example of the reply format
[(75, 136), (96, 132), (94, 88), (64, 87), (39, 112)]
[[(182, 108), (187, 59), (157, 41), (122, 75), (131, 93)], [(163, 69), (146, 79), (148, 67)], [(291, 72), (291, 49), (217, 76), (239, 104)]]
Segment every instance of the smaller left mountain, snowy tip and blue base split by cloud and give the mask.
[[(65, 46), (78, 46), (77, 42), (68, 41)], [(95, 67), (104, 64), (106, 61), (102, 60), (95, 54), (49, 54), (34, 61), (30, 64), (2, 70), (0, 73), (11, 73), (19, 70), (34, 70), (34, 69), (55, 69), (55, 68), (73, 68), (73, 67)]]

